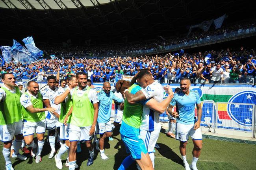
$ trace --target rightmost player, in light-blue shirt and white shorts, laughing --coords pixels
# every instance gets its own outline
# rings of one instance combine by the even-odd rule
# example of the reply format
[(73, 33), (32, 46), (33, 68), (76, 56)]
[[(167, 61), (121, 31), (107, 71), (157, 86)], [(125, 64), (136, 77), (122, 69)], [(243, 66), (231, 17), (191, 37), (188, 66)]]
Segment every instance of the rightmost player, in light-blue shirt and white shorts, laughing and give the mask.
[[(186, 170), (197, 170), (197, 161), (202, 149), (202, 133), (199, 129), (202, 108), (200, 95), (197, 91), (190, 90), (190, 80), (183, 78), (180, 81), (181, 91), (177, 92), (173, 96), (167, 111), (171, 113), (173, 117), (177, 117), (176, 120), (176, 139), (180, 140), (180, 153)], [(172, 111), (174, 105), (176, 105), (176, 112)], [(195, 105), (197, 106), (197, 117), (195, 118)], [(193, 159), (189, 165), (186, 160), (186, 146), (187, 140), (191, 136), (194, 148)]]

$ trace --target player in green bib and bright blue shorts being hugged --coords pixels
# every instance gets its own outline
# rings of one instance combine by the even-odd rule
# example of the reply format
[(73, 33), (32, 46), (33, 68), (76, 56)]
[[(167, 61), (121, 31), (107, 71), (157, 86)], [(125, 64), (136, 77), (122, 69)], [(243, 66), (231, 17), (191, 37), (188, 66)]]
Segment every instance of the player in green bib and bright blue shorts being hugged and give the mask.
[[(125, 91), (135, 94), (139, 90), (141, 90), (141, 87), (135, 83), (129, 88), (129, 90), (126, 89)], [(124, 111), (122, 124), (120, 127), (120, 134), (122, 141), (126, 146), (126, 151), (131, 153), (131, 156), (126, 157), (122, 164), (126, 164), (124, 163), (126, 161), (131, 162), (130, 157), (132, 157), (132, 159), (139, 164), (142, 170), (153, 170), (144, 141), (143, 139), (139, 138), (139, 127), (141, 126), (142, 111), (143, 105), (140, 102), (130, 104), (127, 100), (124, 101)], [(122, 165), (119, 167), (119, 170), (124, 169), (125, 168)]]

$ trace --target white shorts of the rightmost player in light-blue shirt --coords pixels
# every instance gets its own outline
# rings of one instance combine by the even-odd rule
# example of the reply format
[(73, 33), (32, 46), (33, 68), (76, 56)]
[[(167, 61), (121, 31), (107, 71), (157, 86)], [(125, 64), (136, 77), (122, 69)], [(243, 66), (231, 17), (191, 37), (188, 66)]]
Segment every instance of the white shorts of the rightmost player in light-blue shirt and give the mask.
[(201, 129), (193, 129), (194, 124), (184, 125), (176, 123), (176, 139), (182, 142), (186, 142), (190, 136), (192, 140), (202, 140)]

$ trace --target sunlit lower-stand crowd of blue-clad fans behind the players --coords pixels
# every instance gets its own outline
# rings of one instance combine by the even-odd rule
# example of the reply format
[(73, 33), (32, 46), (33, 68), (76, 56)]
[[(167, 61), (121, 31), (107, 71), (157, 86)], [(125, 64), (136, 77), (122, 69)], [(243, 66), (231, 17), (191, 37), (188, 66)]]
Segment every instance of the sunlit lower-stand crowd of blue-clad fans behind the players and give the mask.
[(187, 77), (192, 83), (253, 83), (256, 73), (254, 49), (205, 51), (194, 54), (181, 52), (141, 57), (106, 57), (42, 59), (32, 64), (9, 63), (0, 73), (12, 72), (17, 81), (35, 78), (43, 80), (51, 74), (61, 79), (85, 72), (92, 82), (114, 82), (123, 76), (134, 76), (140, 69), (148, 69), (160, 83), (179, 83)]

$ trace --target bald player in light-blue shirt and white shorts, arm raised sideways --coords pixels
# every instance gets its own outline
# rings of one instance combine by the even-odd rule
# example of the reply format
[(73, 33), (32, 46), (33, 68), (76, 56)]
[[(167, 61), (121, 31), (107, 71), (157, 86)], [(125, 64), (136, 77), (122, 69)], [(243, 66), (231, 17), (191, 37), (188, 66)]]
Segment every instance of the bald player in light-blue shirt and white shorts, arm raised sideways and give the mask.
[(100, 157), (103, 160), (108, 159), (108, 157), (104, 153), (104, 140), (106, 137), (111, 136), (112, 127), (110, 122), (111, 108), (112, 108), (112, 100), (116, 103), (122, 103), (124, 101), (123, 98), (118, 98), (111, 92), (111, 85), (109, 82), (105, 82), (103, 84), (103, 91), (97, 94), (98, 100), (100, 102), (99, 112), (98, 112), (98, 126), (97, 133), (100, 134), (100, 140), (96, 141), (96, 144), (100, 144)]

